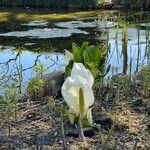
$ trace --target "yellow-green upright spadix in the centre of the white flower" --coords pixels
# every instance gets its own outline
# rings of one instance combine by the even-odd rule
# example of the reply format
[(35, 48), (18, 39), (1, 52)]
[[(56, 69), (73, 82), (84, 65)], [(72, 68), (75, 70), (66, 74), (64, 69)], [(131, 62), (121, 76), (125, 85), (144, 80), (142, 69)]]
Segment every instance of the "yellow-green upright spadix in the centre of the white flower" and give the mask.
[(80, 87), (79, 88), (79, 112), (81, 115), (84, 113), (84, 106), (85, 106), (84, 93), (83, 93), (83, 89)]

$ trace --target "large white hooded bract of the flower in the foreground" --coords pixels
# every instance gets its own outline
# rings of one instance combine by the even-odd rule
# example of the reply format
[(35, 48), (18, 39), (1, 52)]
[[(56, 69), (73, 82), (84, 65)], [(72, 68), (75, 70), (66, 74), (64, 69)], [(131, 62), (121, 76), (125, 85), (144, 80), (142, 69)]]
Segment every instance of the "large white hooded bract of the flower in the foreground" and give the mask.
[[(74, 63), (71, 75), (66, 78), (61, 89), (62, 96), (70, 107), (70, 112), (77, 116), (82, 115), (90, 118), (89, 122), (92, 122), (90, 106), (94, 103), (93, 83), (94, 78), (90, 71), (82, 63)], [(81, 90), (83, 96), (81, 96)], [(81, 97), (82, 102), (80, 102)], [(80, 106), (81, 103), (82, 106)]]

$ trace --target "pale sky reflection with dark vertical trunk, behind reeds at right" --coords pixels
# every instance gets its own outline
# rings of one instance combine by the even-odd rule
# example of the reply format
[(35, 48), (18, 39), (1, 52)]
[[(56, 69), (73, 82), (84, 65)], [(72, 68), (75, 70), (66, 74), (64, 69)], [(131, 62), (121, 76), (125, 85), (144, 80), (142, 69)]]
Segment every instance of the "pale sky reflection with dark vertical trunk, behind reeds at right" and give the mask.
[(109, 63), (117, 68), (116, 73), (133, 74), (143, 65), (150, 63), (148, 45), (150, 37), (147, 34), (150, 31), (135, 28), (123, 30), (109, 30)]

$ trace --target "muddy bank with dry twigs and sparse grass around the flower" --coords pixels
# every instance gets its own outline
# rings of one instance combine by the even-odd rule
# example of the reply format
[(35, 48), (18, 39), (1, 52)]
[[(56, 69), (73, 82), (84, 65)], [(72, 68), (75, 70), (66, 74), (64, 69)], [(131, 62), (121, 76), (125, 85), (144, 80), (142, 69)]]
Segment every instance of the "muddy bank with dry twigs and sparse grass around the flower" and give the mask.
[[(141, 77), (141, 74), (146, 77), (150, 74), (146, 68), (136, 77), (143, 83), (147, 83), (147, 79)], [(54, 79), (56, 76), (55, 74)], [(51, 81), (51, 77), (46, 75), (48, 81)], [(84, 147), (76, 126), (70, 124), (67, 114), (64, 113), (65, 140), (68, 149), (96, 150), (101, 149), (103, 142), (108, 150), (112, 150), (114, 146), (119, 150), (135, 147), (141, 150), (149, 149), (150, 95), (138, 93), (139, 85), (136, 82), (129, 82), (127, 75), (120, 74), (113, 77), (112, 83), (99, 91), (100, 97), (95, 95), (92, 109), (94, 124), (84, 129), (88, 148)], [(149, 89), (148, 85), (146, 89)], [(62, 149), (61, 109), (62, 104), (64, 110), (68, 109), (65, 101), (61, 98), (42, 97), (39, 101), (30, 102), (17, 105), (17, 119), (11, 118), (10, 138), (8, 138), (8, 122), (0, 116), (2, 125), (0, 149)]]

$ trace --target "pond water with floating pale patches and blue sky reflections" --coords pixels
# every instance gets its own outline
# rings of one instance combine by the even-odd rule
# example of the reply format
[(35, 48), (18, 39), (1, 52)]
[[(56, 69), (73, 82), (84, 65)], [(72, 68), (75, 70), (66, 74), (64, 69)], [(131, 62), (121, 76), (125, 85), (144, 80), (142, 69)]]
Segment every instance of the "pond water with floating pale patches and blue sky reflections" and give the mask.
[(150, 63), (149, 21), (149, 12), (0, 10), (0, 87), (20, 70), (26, 85), (37, 61), (48, 67), (46, 73), (63, 70), (64, 49), (71, 50), (72, 42), (108, 44), (108, 76), (134, 73)]

